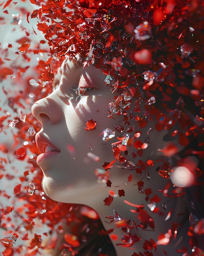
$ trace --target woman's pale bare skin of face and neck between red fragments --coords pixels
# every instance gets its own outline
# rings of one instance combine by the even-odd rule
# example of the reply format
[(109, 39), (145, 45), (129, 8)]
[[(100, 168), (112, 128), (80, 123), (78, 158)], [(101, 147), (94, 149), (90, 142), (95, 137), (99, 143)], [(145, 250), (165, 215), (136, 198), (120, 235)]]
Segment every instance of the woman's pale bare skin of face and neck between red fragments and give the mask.
[[(100, 134), (106, 128), (114, 130), (114, 124), (124, 126), (123, 115), (114, 115), (114, 118), (107, 117), (108, 103), (114, 101), (114, 94), (110, 92), (109, 87), (104, 86), (105, 75), (101, 70), (97, 70), (94, 65), (85, 69), (81, 66), (76, 67), (77, 58), (69, 58), (64, 61), (53, 83), (56, 89), (46, 98), (34, 103), (32, 107), (33, 115), (42, 125), (42, 129), (36, 136), (38, 138), (36, 142), (39, 150), (41, 153), (45, 152), (47, 144), (51, 148), (48, 147), (46, 151), (50, 151), (52, 148), (55, 150), (51, 151), (50, 156), (47, 154), (37, 159), (37, 163), (44, 173), (42, 185), (46, 194), (53, 200), (84, 204), (92, 207), (99, 214), (106, 230), (116, 227), (114, 224), (108, 224), (109, 220), (105, 218), (108, 215), (112, 216), (113, 210), (122, 219), (128, 220), (131, 218), (135, 220), (137, 225), (140, 224), (137, 213), (131, 211), (132, 209), (136, 210), (136, 207), (128, 205), (124, 200), (133, 204), (144, 204), (145, 210), (154, 218), (155, 230), (147, 228), (146, 231), (142, 231), (140, 227), (138, 227), (138, 231), (134, 229), (132, 234), (136, 233), (142, 239), (141, 243), (136, 243), (132, 246), (132, 248), (136, 246), (138, 249), (123, 248), (116, 245), (121, 243), (120, 239), (124, 234), (121, 228), (115, 228), (112, 233), (118, 236), (118, 240), (112, 240), (117, 256), (132, 256), (134, 252), (143, 251), (142, 246), (145, 240), (153, 238), (156, 241), (159, 234), (165, 234), (171, 228), (171, 222), (175, 220), (170, 218), (170, 220), (165, 222), (164, 219), (168, 211), (172, 207), (175, 208), (176, 199), (169, 200), (170, 198), (163, 197), (161, 192), (160, 194), (157, 192), (158, 189), (164, 189), (165, 184), (169, 181), (156, 173), (157, 165), (148, 168), (151, 179), (147, 181), (145, 178), (147, 171), (144, 171), (142, 175), (137, 174), (135, 170), (118, 168), (118, 162), (116, 162), (114, 167), (109, 170), (109, 180), (112, 182), (111, 187), (97, 182), (94, 171), (96, 168), (102, 168), (104, 162), (112, 162), (114, 160), (111, 143), (117, 141), (115, 137), (113, 140), (104, 142), (102, 140), (103, 135)], [(76, 93), (72, 91), (72, 87), (78, 86), (81, 88), (89, 87), (92, 90), (85, 92), (76, 101)], [(140, 116), (142, 115), (143, 113), (140, 113)], [(86, 131), (86, 123), (90, 119), (96, 121), (97, 126), (95, 130)], [(154, 128), (154, 122), (149, 122), (147, 127), (143, 129), (136, 128), (136, 130), (142, 132), (141, 140), (147, 137), (147, 130), (150, 127)], [(156, 159), (161, 158), (158, 148), (163, 148), (167, 143), (163, 140), (163, 136), (166, 133), (167, 131), (165, 130), (158, 132), (154, 129), (148, 135), (150, 144), (144, 150), (143, 156), (133, 159), (130, 153), (127, 158), (134, 162), (134, 164), (139, 159), (144, 163), (148, 159), (153, 159), (156, 163)], [(117, 133), (116, 136), (123, 136), (123, 133)], [(100, 160), (96, 162), (90, 159), (87, 155), (90, 152), (99, 156)], [(132, 182), (128, 182), (130, 174), (133, 175)], [(138, 193), (138, 186), (136, 184), (141, 179), (145, 181), (146, 187), (152, 189), (153, 193), (151, 195), (157, 193), (160, 196), (161, 201), (157, 204), (158, 207), (160, 207), (162, 202), (167, 202), (168, 208), (166, 211), (160, 207), (161, 212), (163, 212), (162, 215), (152, 213), (147, 207), (149, 201), (145, 201), (146, 195)], [(110, 195), (110, 189), (114, 191), (117, 197), (107, 206), (103, 200)], [(125, 197), (118, 195), (118, 190), (122, 189), (125, 191)], [(180, 213), (182, 213), (182, 210), (180, 210)], [(187, 245), (184, 239), (183, 243), (183, 245)], [(173, 248), (171, 243), (167, 247), (162, 248), (169, 255), (176, 255), (175, 248)], [(155, 255), (164, 255), (162, 248), (160, 246)]]

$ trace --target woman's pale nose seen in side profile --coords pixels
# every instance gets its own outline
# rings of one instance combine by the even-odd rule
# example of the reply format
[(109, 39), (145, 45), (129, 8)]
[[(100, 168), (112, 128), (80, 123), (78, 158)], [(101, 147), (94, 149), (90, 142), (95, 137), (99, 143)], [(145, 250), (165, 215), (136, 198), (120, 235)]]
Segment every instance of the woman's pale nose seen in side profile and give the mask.
[(31, 108), (34, 117), (42, 126), (46, 124), (57, 124), (62, 119), (63, 110), (51, 95), (36, 101)]

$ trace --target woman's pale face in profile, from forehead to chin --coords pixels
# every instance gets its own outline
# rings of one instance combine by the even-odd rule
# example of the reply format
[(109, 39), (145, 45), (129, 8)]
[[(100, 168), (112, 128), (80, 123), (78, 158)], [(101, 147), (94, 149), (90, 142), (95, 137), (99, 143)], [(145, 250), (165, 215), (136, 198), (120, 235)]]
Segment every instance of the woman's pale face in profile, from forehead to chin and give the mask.
[[(95, 169), (103, 169), (105, 162), (114, 160), (112, 141), (103, 141), (100, 134), (106, 128), (114, 129), (116, 123), (123, 124), (123, 117), (107, 117), (114, 94), (104, 86), (104, 79), (103, 72), (93, 65), (83, 69), (70, 58), (57, 72), (53, 82), (56, 89), (32, 107), (42, 125), (36, 135), (41, 153), (37, 164), (44, 173), (43, 188), (54, 200), (83, 203), (85, 195), (101, 186)], [(86, 123), (91, 119), (97, 125), (87, 131)]]

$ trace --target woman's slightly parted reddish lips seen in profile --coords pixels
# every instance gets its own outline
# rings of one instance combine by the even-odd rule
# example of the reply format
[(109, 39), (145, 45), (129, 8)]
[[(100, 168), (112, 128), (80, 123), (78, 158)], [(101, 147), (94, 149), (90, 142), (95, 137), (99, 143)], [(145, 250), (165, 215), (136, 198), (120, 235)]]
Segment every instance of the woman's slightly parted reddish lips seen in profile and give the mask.
[[(53, 157), (60, 153), (59, 148), (57, 148), (52, 143), (52, 141), (50, 141), (50, 139), (48, 139), (48, 137), (46, 137), (46, 135), (42, 132), (39, 132), (35, 135), (35, 142), (36, 142), (37, 147), (41, 153), (37, 156), (37, 159), (36, 159), (36, 162), (38, 165), (39, 165), (39, 162), (42, 162), (42, 160)], [(53, 148), (55, 151), (45, 152), (45, 148), (47, 145), (50, 146), (51, 148)]]

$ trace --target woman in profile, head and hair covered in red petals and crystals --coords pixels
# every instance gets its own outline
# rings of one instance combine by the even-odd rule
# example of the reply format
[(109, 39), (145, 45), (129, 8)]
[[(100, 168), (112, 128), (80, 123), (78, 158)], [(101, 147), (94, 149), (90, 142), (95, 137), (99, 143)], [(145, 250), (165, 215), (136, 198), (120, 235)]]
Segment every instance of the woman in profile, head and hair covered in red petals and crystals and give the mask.
[[(189, 214), (203, 218), (195, 192), (202, 187), (196, 152), (203, 127), (202, 87), (194, 76), (202, 81), (202, 44), (192, 32), (200, 29), (197, 7), (180, 1), (47, 7), (61, 23), (53, 18), (43, 31), (52, 45), (53, 92), (32, 107), (42, 126), (35, 140), (45, 193), (96, 211), (117, 256), (185, 253), (188, 228), (199, 222), (189, 224)], [(199, 237), (194, 247), (202, 248)]]

